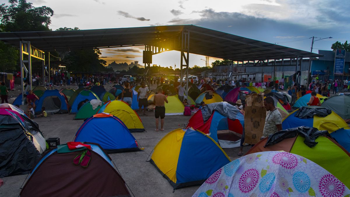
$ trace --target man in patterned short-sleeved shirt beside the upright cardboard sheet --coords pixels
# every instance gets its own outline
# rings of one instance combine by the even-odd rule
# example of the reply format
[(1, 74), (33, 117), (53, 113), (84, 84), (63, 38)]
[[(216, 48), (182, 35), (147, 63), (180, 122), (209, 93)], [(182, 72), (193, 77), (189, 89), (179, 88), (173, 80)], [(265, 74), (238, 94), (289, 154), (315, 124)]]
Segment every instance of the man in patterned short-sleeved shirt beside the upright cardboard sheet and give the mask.
[(282, 117), (281, 113), (275, 107), (275, 102), (272, 97), (266, 97), (264, 99), (264, 106), (266, 111), (269, 111), (266, 114), (265, 126), (262, 131), (262, 137), (268, 137), (271, 134), (276, 133), (277, 131), (282, 130)]

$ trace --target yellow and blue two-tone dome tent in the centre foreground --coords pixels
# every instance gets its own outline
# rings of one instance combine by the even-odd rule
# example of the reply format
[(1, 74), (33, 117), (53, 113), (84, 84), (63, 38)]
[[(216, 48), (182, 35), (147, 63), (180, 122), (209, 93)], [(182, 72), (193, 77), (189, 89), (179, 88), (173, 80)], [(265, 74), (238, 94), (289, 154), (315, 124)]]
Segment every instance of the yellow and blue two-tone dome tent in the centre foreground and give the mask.
[(177, 189), (202, 184), (231, 160), (211, 137), (188, 128), (164, 136), (150, 162)]

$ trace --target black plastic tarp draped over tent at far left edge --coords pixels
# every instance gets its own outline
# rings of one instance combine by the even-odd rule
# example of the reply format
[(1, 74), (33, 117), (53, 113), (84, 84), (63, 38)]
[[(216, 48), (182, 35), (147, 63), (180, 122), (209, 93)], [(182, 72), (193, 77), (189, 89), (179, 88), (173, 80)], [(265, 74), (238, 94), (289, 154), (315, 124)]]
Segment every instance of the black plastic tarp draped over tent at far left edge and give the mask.
[(0, 128), (0, 177), (28, 174), (41, 154), (18, 125)]

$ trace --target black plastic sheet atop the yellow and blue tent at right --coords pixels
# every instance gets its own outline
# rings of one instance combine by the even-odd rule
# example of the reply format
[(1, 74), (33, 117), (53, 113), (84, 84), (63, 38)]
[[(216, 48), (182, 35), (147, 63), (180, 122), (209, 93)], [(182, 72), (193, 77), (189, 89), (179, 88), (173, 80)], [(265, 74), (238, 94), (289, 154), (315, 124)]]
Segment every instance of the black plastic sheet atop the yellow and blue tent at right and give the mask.
[(298, 118), (312, 118), (314, 115), (326, 117), (332, 113), (332, 110), (320, 106), (302, 106), (295, 112), (295, 117)]

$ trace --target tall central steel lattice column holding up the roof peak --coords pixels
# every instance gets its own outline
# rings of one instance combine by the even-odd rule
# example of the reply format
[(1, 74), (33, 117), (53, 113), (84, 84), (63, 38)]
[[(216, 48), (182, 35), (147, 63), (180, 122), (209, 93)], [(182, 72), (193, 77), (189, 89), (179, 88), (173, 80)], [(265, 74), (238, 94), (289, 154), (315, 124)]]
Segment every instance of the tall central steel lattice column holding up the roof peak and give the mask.
[(180, 60), (180, 82), (182, 82), (184, 75), (186, 75), (186, 96), (188, 96), (189, 55), (190, 55), (190, 32), (189, 31), (182, 31), (181, 60)]

